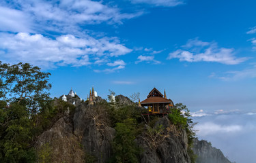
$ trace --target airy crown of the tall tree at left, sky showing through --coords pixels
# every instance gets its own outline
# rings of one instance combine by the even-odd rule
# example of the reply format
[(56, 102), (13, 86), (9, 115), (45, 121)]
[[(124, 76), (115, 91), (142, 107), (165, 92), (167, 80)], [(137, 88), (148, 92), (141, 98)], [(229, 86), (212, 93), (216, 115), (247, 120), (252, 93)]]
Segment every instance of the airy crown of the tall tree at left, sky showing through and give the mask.
[(10, 65), (0, 61), (0, 98), (20, 103), (31, 114), (38, 113), (51, 100), (47, 92), (51, 89), (51, 84), (48, 84), (50, 75), (28, 63)]

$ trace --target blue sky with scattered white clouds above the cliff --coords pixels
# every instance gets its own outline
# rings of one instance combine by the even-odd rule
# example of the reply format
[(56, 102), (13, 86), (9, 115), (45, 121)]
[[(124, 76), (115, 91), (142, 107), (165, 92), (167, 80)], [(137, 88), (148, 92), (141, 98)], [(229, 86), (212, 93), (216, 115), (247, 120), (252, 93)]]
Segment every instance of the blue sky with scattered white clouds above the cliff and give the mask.
[[(201, 130), (216, 128), (212, 113), (220, 110), (227, 120), (236, 111), (239, 121), (231, 122), (244, 128), (253, 124), (248, 113), (256, 113), (255, 6), (253, 0), (3, 0), (0, 59), (51, 72), (52, 96), (72, 87), (87, 98), (94, 86), (102, 98), (111, 89), (140, 92), (143, 100), (156, 87), (187, 105)], [(231, 134), (238, 138), (236, 129)], [(251, 135), (255, 130), (254, 123)], [(216, 138), (215, 131), (198, 136)]]

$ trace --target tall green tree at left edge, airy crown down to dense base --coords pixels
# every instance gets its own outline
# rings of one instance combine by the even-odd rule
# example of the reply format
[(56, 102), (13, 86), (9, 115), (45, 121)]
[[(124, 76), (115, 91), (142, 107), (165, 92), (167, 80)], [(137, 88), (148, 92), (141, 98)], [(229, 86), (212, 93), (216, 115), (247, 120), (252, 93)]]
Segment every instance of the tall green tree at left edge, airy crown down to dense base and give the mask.
[(39, 111), (48, 112), (50, 73), (27, 63), (0, 62), (0, 160), (34, 162), (33, 137)]

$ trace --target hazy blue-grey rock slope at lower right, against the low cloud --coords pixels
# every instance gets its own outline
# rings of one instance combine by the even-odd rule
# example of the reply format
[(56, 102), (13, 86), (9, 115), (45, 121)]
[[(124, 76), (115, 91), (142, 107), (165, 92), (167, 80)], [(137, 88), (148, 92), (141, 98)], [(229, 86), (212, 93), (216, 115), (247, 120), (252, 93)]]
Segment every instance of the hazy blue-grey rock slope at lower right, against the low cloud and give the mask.
[(197, 163), (231, 163), (220, 149), (212, 147), (207, 141), (194, 139), (193, 151), (198, 156)]

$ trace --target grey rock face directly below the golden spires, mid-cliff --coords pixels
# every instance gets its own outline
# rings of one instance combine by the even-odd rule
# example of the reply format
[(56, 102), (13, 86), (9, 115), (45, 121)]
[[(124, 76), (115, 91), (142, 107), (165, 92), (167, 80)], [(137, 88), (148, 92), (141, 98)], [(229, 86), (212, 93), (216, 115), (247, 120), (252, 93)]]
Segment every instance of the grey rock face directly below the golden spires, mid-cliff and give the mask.
[[(109, 126), (101, 125), (94, 115), (106, 116), (97, 112), (97, 108), (88, 105), (79, 105), (74, 113), (74, 134), (82, 137), (82, 145), (85, 151), (98, 159), (98, 162), (106, 162), (111, 158), (111, 142), (115, 136), (115, 130)], [(101, 115), (100, 115), (101, 116)]]

